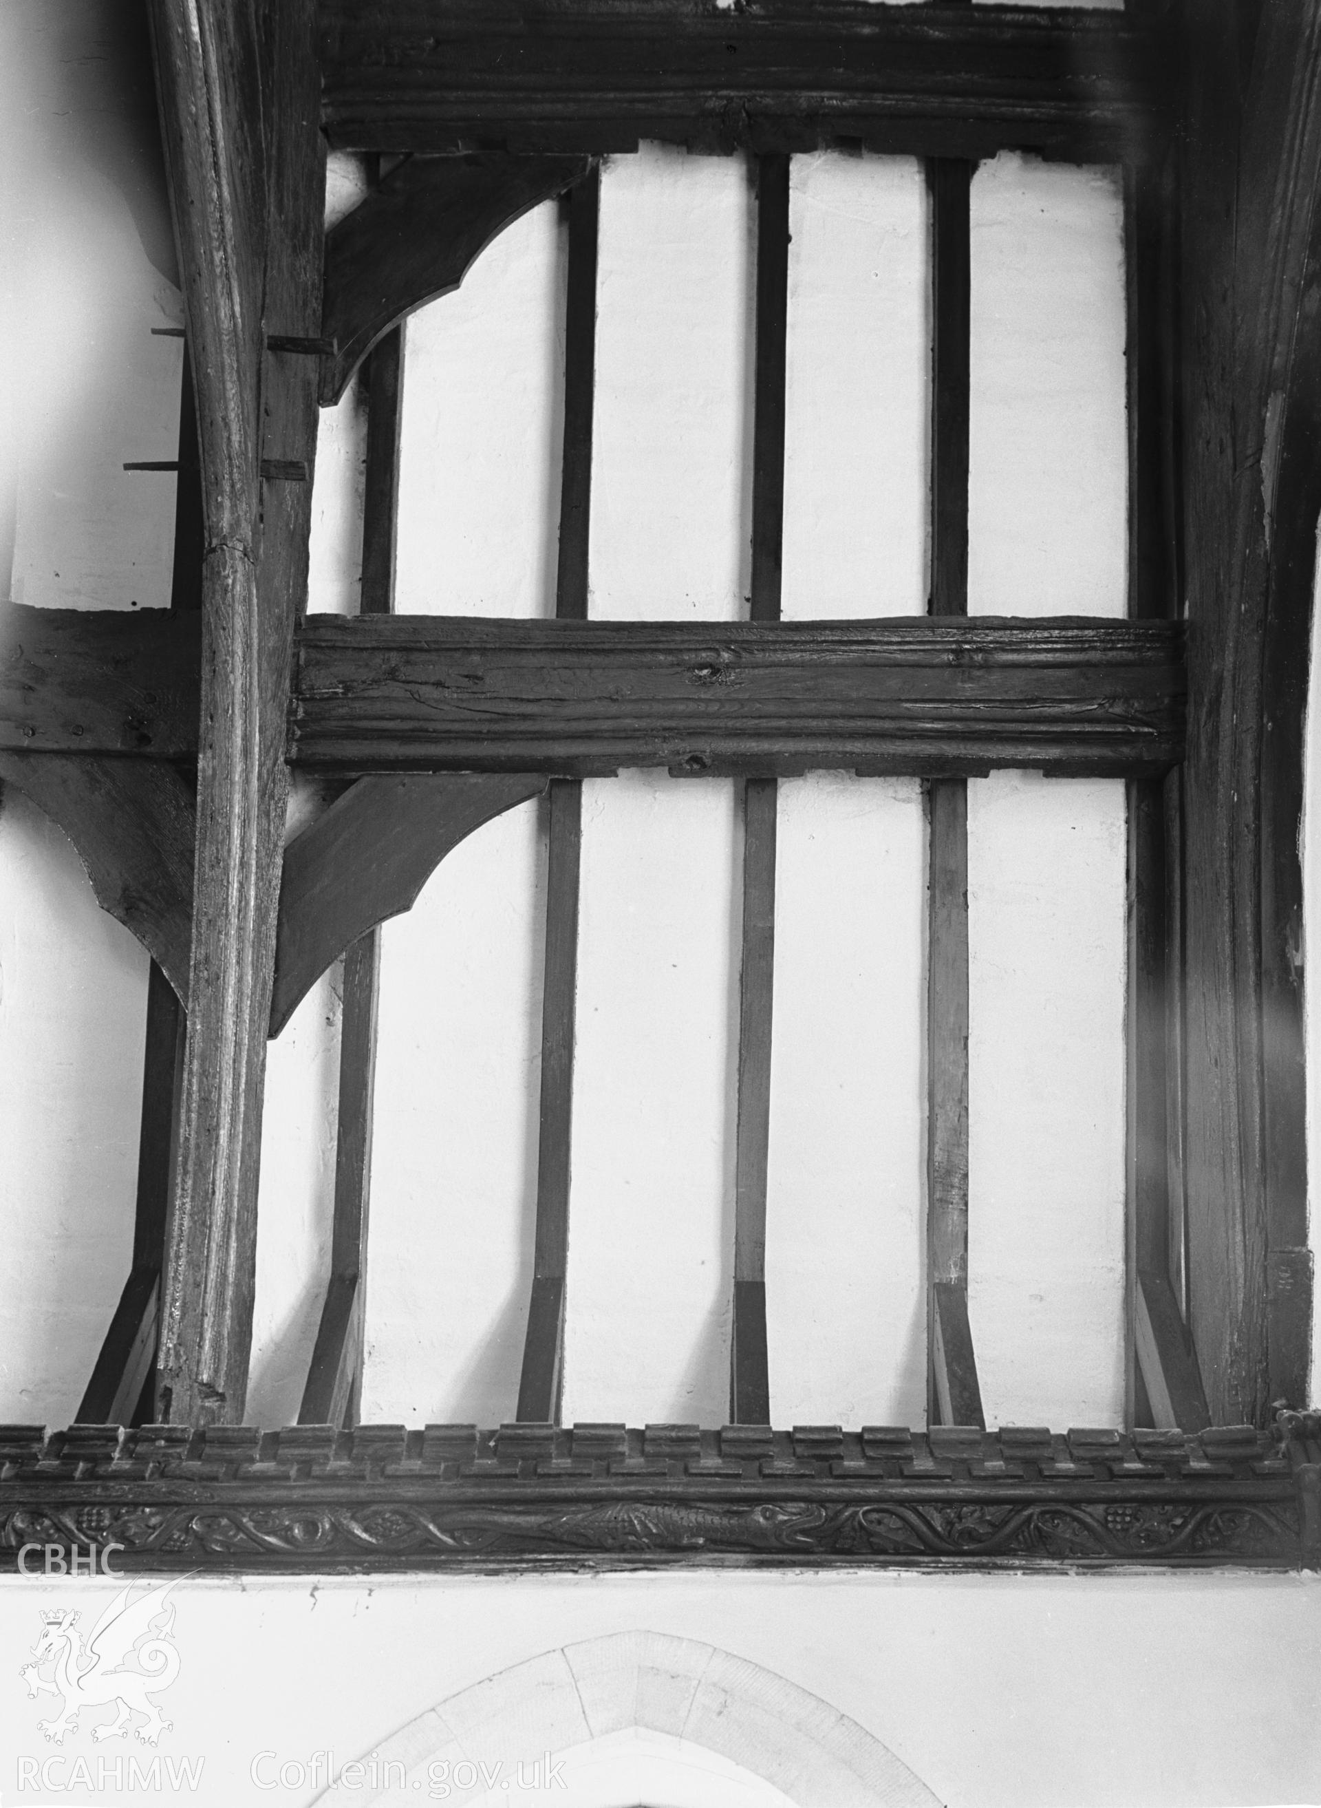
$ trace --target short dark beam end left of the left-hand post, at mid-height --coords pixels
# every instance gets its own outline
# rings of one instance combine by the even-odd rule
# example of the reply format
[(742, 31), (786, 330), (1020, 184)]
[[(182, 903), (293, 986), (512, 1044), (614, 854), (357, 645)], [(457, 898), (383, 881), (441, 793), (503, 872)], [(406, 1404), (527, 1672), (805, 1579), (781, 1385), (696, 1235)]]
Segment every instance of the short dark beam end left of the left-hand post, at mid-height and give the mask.
[(197, 618), (0, 604), (0, 750), (197, 754)]

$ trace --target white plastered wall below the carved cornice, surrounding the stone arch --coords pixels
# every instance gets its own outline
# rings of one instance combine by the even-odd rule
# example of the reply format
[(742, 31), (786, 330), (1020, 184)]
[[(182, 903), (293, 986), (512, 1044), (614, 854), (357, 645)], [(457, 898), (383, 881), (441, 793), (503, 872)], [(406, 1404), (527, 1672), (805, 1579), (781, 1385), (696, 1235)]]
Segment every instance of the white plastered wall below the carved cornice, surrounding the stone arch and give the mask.
[[(58, 1756), (38, 1730), (51, 1698), (29, 1700), (14, 1672), (40, 1613), (78, 1606), (94, 1620), (112, 1584), (0, 1582), (0, 1790), (5, 1803), (78, 1801), (14, 1788), (20, 1757)], [(197, 1808), (302, 1808), (318, 1792), (311, 1759), (389, 1754), (428, 1709), (486, 1678), (497, 1712), (482, 1725), (470, 1698), (463, 1739), (472, 1759), (542, 1759), (555, 1737), (555, 1653), (611, 1634), (696, 1640), (719, 1669), (745, 1660), (880, 1741), (949, 1808), (1265, 1808), (1321, 1801), (1316, 1674), (1321, 1586), (1312, 1577), (934, 1577), (831, 1571), (670, 1571), (667, 1575), (383, 1577), (309, 1582), (184, 1580), (175, 1587), (179, 1680), (161, 1696), (173, 1721), (161, 1756), (201, 1757)], [(499, 1678), (540, 1660), (549, 1687), (526, 1703), (510, 1739)], [(623, 1663), (618, 1665), (625, 1669)], [(786, 1690), (790, 1694), (790, 1690)], [(652, 1721), (656, 1716), (651, 1716)], [(94, 1716), (87, 1716), (90, 1721)], [(416, 1728), (425, 1759), (441, 1728)], [(696, 1728), (690, 1728), (696, 1730)], [(745, 1768), (799, 1808), (840, 1808), (840, 1795), (792, 1777), (792, 1719)], [(520, 1736), (519, 1736), (520, 1734)], [(436, 1743), (432, 1743), (432, 1739)], [(114, 1761), (123, 1741), (67, 1741), (67, 1763)], [(707, 1747), (710, 1750), (710, 1747)], [(398, 1747), (396, 1747), (398, 1750)], [(139, 1757), (150, 1757), (132, 1747)], [(253, 1781), (253, 1761), (258, 1765)], [(278, 1784), (278, 1766), (289, 1786)], [(766, 1775), (770, 1770), (770, 1775)], [(69, 1768), (58, 1772), (69, 1777)], [(510, 1777), (510, 1772), (504, 1774)], [(358, 1790), (370, 1799), (370, 1772)], [(379, 1777), (379, 1774), (378, 1774)], [(398, 1772), (392, 1774), (392, 1781)], [(408, 1790), (432, 1795), (425, 1763)], [(665, 1803), (647, 1772), (613, 1799)], [(508, 1799), (524, 1792), (513, 1775)], [(271, 1788), (269, 1784), (275, 1783)], [(457, 1792), (455, 1792), (457, 1795)], [(141, 1792), (89, 1792), (141, 1803)], [(163, 1797), (168, 1799), (168, 1794)], [(396, 1795), (396, 1801), (399, 1797)], [(586, 1808), (591, 1795), (551, 1790)], [(896, 1797), (902, 1803), (905, 1797)], [(911, 1797), (909, 1797), (911, 1799)], [(596, 1804), (602, 1808), (602, 1804)], [(748, 1804), (754, 1808), (754, 1804)], [(761, 1804), (755, 1804), (761, 1808)]]

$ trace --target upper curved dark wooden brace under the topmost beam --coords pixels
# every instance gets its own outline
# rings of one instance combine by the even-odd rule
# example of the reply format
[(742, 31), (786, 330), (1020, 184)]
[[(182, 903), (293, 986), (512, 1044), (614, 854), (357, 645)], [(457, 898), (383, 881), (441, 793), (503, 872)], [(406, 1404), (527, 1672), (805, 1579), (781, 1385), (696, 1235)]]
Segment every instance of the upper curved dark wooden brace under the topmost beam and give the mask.
[(383, 333), (457, 289), (486, 246), (540, 201), (571, 188), (591, 157), (410, 157), (325, 239), (322, 405), (338, 401)]

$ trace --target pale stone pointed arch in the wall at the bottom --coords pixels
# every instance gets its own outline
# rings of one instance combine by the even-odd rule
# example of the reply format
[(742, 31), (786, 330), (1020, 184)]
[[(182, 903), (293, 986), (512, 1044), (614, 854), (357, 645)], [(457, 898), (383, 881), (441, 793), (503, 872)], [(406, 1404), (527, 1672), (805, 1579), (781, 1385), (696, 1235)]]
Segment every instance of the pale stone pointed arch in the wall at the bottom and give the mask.
[[(801, 1808), (938, 1808), (938, 1797), (857, 1721), (775, 1671), (696, 1638), (607, 1633), (544, 1651), (417, 1714), (365, 1754), (360, 1788), (318, 1801), (426, 1799), (430, 1765), (528, 1765), (645, 1728), (703, 1747), (781, 1790)], [(372, 1788), (372, 1777), (376, 1786)], [(416, 1786), (419, 1784), (419, 1786)], [(450, 1784), (448, 1801), (484, 1794)]]

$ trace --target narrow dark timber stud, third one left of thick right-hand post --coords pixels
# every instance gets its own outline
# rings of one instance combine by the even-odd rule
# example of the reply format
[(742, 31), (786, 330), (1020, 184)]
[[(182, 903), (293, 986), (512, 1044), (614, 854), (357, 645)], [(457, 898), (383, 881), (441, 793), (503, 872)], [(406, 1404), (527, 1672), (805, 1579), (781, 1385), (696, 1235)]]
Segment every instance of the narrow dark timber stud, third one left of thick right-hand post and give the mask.
[[(790, 159), (766, 154), (757, 177), (757, 327), (752, 439), (754, 622), (777, 622), (784, 548), (784, 360), (790, 275)], [(773, 777), (743, 781), (743, 962), (734, 1154), (734, 1334), (730, 1421), (770, 1423), (766, 1352), (766, 1157), (775, 1003)]]

